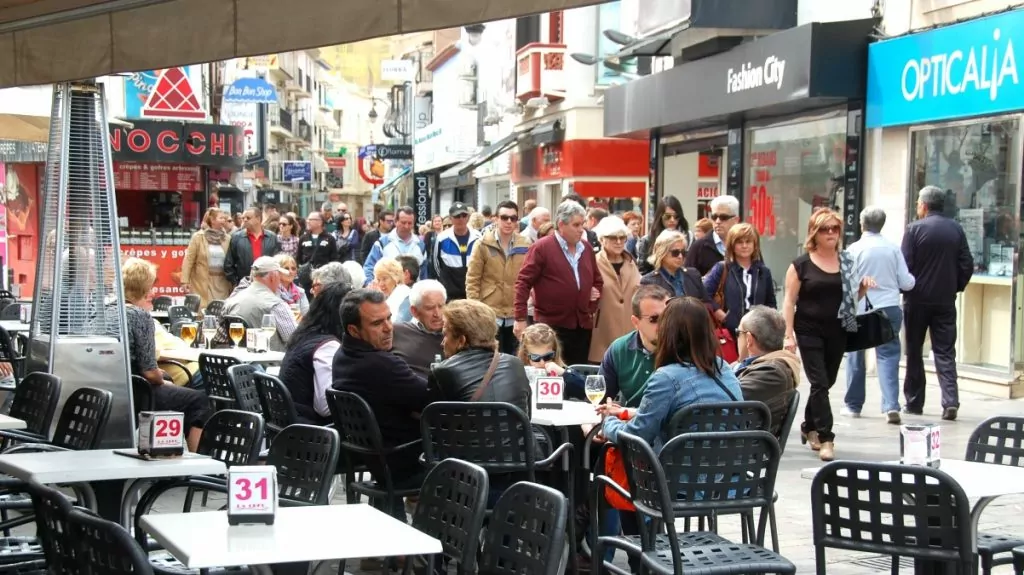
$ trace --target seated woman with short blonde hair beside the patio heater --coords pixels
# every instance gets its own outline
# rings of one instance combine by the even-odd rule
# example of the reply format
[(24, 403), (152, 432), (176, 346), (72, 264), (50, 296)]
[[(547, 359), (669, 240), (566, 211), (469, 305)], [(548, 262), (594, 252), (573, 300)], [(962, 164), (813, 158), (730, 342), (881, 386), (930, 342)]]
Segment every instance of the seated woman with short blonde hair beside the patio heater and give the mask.
[[(203, 426), (210, 417), (210, 404), (206, 394), (175, 386), (165, 381), (165, 373), (157, 366), (155, 327), (150, 311), (153, 309), (153, 284), (157, 269), (152, 263), (138, 258), (128, 258), (121, 266), (121, 281), (125, 291), (125, 314), (128, 325), (128, 353), (133, 375), (144, 378), (153, 386), (155, 407), (161, 411), (181, 411), (185, 415), (188, 449), (196, 451)], [(113, 311), (113, 310), (111, 310)], [(118, 333), (118, 314), (106, 313), (108, 329)]]

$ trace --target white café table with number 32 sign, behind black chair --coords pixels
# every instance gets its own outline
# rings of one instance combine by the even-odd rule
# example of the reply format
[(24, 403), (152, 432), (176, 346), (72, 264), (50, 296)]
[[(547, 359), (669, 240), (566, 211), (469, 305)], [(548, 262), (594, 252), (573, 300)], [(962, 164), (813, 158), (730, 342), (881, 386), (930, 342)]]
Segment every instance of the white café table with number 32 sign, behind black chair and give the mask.
[[(899, 461), (887, 462), (899, 463)], [(800, 477), (814, 479), (820, 469), (801, 470)], [(974, 546), (973, 550), (977, 554), (978, 521), (981, 519), (982, 512), (1000, 495), (1024, 493), (1024, 468), (961, 459), (941, 459), (938, 469), (958, 483), (969, 499), (977, 499), (971, 510), (971, 541)], [(920, 575), (939, 575), (947, 572), (942, 564), (934, 565), (925, 560), (915, 562), (914, 573)]]

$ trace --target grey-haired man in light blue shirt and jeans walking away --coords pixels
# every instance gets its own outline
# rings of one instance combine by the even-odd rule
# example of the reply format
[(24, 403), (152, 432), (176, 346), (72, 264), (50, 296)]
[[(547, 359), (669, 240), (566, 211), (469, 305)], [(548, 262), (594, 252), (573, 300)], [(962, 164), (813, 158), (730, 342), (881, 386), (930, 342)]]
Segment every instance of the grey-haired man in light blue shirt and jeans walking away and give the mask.
[[(882, 236), (882, 226), (886, 225), (886, 213), (878, 206), (868, 206), (860, 212), (860, 239), (847, 249), (856, 266), (855, 277), (874, 279), (874, 288), (867, 290), (866, 301), (874, 309), (882, 310), (889, 318), (896, 337), (888, 344), (874, 348), (878, 359), (879, 387), (882, 389), (882, 412), (889, 423), (898, 426), (899, 415), (899, 360), (901, 355), (899, 328), (903, 323), (900, 310), (900, 292), (913, 290), (913, 275), (907, 269), (906, 260), (899, 246)], [(865, 303), (858, 310), (863, 313)], [(864, 406), (864, 352), (846, 354), (846, 406), (841, 414), (859, 417)]]

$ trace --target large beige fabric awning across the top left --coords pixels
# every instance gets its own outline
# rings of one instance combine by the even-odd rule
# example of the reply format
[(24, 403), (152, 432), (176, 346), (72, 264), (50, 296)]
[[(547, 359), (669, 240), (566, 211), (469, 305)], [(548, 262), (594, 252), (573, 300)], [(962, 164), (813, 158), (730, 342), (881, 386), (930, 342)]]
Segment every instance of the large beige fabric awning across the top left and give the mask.
[(333, 46), (598, 3), (0, 0), (0, 88)]

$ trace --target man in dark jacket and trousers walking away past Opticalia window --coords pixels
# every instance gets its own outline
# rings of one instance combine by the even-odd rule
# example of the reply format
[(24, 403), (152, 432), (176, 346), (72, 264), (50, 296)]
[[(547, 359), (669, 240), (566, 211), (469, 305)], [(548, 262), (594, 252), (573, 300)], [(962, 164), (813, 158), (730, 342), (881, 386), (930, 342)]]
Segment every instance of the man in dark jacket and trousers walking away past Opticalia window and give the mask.
[[(903, 257), (916, 279), (903, 296), (906, 326), (906, 377), (903, 410), (915, 415), (925, 408), (925, 333), (932, 340), (935, 371), (942, 390), (942, 418), (956, 419), (956, 294), (974, 274), (974, 257), (967, 234), (944, 213), (946, 192), (925, 186), (918, 193), (918, 221), (903, 234)], [(954, 256), (955, 254), (955, 256)]]

